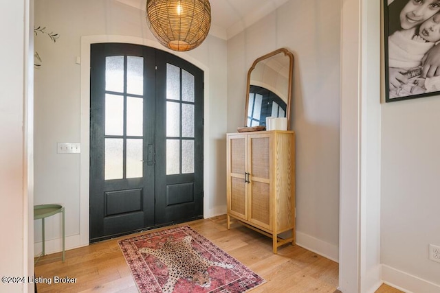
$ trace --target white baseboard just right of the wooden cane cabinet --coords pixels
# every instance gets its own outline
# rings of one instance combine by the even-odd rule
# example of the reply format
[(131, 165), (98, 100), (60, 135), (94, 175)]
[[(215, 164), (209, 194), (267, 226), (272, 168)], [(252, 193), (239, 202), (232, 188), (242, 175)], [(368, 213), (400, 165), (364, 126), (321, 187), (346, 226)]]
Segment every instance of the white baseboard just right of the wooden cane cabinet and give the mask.
[(334, 244), (330, 244), (299, 231), (296, 231), (296, 244), (307, 250), (313, 251), (314, 253), (318, 253), (318, 255), (327, 257), (327, 259), (331, 259), (337, 263), (339, 262), (339, 247)]

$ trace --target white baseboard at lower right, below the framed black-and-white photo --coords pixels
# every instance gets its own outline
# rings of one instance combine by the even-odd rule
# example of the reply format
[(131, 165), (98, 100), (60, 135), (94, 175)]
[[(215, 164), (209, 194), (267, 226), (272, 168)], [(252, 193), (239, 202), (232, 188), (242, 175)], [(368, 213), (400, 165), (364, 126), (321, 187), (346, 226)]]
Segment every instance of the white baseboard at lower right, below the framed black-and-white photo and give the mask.
[(439, 293), (440, 285), (382, 265), (382, 281), (406, 293)]

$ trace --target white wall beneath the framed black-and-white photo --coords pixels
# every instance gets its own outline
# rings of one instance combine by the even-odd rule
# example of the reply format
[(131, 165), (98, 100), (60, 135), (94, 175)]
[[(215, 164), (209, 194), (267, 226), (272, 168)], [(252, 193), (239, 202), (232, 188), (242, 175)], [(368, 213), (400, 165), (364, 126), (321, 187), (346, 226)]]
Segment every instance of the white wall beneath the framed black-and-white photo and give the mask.
[(439, 96), (382, 105), (384, 281), (413, 292), (440, 292), (428, 259), (428, 244), (440, 246), (439, 125)]

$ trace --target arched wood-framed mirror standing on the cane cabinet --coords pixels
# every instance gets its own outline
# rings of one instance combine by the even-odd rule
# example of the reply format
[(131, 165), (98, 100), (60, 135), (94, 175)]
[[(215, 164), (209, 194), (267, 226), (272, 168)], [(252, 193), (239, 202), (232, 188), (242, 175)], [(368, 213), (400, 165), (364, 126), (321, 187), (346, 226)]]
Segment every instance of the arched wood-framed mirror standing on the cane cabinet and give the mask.
[(266, 117), (286, 117), (290, 128), (294, 55), (281, 48), (257, 58), (248, 71), (245, 126), (265, 126)]

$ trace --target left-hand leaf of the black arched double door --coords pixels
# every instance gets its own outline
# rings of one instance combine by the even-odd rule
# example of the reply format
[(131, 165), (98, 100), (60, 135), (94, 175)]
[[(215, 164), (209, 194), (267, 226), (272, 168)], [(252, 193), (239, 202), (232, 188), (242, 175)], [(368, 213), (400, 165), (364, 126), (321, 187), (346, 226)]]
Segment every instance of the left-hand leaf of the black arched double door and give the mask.
[(91, 45), (90, 240), (154, 226), (154, 49)]

